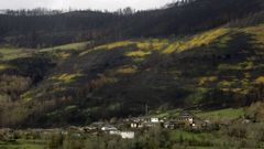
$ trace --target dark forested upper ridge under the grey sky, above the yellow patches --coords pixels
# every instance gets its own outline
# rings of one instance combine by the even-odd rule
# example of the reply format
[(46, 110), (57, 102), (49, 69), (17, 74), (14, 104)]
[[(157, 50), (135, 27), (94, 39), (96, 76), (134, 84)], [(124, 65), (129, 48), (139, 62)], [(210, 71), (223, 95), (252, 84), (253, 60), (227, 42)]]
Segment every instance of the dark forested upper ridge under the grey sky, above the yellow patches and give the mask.
[(69, 42), (98, 44), (142, 36), (193, 34), (263, 10), (262, 0), (184, 0), (163, 9), (134, 12), (45, 10), (8, 11), (0, 15), (0, 42), (46, 47)]

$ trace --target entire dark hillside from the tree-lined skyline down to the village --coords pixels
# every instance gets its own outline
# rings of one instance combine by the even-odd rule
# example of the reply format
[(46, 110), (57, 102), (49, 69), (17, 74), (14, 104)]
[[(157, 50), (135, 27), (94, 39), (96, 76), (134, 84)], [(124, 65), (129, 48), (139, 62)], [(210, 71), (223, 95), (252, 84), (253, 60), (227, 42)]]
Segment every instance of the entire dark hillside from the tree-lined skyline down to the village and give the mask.
[(136, 13), (1, 15), (0, 125), (263, 100), (262, 10), (261, 0), (196, 0)]

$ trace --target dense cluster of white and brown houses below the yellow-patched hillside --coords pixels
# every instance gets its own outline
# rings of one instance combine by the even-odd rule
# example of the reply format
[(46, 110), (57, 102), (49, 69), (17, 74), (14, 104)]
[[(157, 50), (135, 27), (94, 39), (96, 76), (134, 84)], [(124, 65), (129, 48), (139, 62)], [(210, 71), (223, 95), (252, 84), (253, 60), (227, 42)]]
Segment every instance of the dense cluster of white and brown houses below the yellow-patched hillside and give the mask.
[[(197, 120), (189, 113), (182, 113), (177, 118), (157, 117), (133, 117), (124, 119), (122, 123), (110, 125), (106, 123), (94, 123), (86, 127), (73, 127), (79, 132), (87, 134), (109, 134), (120, 136), (123, 139), (133, 139), (139, 129), (162, 127), (164, 129), (190, 128), (198, 129)], [(72, 129), (73, 129), (72, 128)]]

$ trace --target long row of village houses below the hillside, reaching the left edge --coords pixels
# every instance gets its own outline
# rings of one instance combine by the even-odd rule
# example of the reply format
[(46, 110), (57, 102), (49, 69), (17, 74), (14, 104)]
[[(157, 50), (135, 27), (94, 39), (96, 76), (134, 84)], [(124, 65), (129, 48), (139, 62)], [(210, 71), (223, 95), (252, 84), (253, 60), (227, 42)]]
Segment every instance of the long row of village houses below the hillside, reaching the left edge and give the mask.
[[(51, 134), (62, 134), (68, 135), (74, 134), (75, 137), (81, 137), (82, 135), (114, 135), (120, 136), (122, 139), (133, 139), (135, 132), (139, 129), (147, 129), (152, 127), (162, 127), (164, 129), (178, 129), (178, 128), (189, 128), (189, 129), (200, 129), (201, 127), (208, 126), (210, 121), (198, 120), (194, 115), (189, 113), (182, 113), (176, 118), (157, 118), (157, 117), (133, 117), (124, 119), (123, 123), (118, 123), (116, 125), (110, 125), (107, 123), (94, 123), (86, 127), (69, 127), (66, 129), (29, 129), (23, 130), (22, 134), (34, 134), (40, 136), (48, 136)], [(18, 132), (19, 130), (16, 130)], [(0, 134), (13, 134), (12, 129), (0, 129)]]

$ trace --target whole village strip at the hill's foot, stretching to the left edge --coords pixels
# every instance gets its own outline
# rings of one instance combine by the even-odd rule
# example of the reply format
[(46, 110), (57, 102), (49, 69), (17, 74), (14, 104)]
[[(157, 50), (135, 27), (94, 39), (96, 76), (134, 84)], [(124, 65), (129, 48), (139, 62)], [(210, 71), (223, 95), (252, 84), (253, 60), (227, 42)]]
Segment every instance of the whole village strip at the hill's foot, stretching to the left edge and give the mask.
[(30, 139), (41, 138), (46, 139), (54, 134), (67, 136), (74, 136), (75, 138), (80, 138), (86, 135), (90, 136), (100, 136), (100, 135), (111, 135), (119, 136), (122, 139), (134, 139), (138, 131), (147, 130), (151, 128), (161, 128), (161, 129), (188, 129), (188, 130), (201, 130), (208, 129), (212, 126), (210, 120), (202, 120), (195, 115), (183, 111), (176, 118), (167, 117), (132, 117), (125, 118), (122, 123), (102, 123), (97, 121), (92, 123), (89, 126), (76, 127), (70, 126), (68, 128), (53, 128), (53, 129), (11, 129), (2, 128), (0, 129), (0, 139), (1, 140), (15, 140), (18, 137), (24, 136)]

